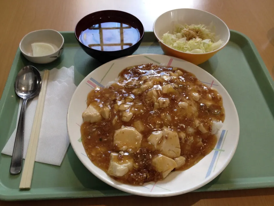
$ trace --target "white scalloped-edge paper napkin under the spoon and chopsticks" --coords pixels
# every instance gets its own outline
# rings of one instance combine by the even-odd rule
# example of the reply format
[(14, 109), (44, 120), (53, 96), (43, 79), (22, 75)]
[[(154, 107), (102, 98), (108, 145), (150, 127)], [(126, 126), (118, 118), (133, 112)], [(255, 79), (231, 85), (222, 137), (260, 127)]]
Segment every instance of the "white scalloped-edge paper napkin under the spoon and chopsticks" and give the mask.
[[(43, 72), (41, 72), (41, 75), (43, 76)], [(73, 66), (70, 68), (62, 67), (59, 70), (56, 68), (50, 70), (35, 161), (51, 165), (61, 165), (69, 145), (67, 109), (75, 89)], [(23, 149), (24, 159), (29, 145), (37, 102), (38, 95), (33, 100), (29, 100), (27, 104)], [(21, 106), (22, 100), (19, 104), (17, 123)], [(12, 155), (16, 130), (17, 127), (3, 148), (3, 154)]]

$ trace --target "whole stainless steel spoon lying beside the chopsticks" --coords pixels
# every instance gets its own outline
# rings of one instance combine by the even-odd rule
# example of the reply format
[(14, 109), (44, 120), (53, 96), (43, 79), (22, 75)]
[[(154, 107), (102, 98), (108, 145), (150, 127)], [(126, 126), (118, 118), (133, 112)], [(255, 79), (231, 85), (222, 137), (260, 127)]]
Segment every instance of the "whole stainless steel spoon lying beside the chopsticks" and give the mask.
[(16, 94), (23, 99), (23, 103), (15, 136), (11, 167), (9, 169), (11, 175), (19, 174), (22, 169), (24, 122), (27, 100), (39, 94), (41, 86), (41, 75), (34, 66), (23, 67), (15, 79), (14, 90)]

